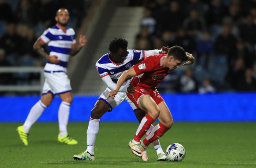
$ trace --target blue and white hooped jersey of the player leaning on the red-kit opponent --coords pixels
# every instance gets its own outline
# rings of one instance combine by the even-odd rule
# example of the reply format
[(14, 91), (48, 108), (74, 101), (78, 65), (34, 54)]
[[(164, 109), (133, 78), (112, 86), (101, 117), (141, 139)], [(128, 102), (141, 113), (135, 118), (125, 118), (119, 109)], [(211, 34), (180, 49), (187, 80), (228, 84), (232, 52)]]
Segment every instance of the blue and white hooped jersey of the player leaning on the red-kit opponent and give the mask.
[[(100, 78), (105, 76), (110, 76), (114, 83), (117, 83), (119, 77), (123, 74), (124, 71), (130, 69), (135, 64), (138, 63), (139, 60), (143, 60), (145, 58), (145, 51), (138, 50), (128, 50), (127, 57), (123, 63), (115, 63), (109, 58), (109, 53), (102, 56), (96, 62), (96, 69), (100, 74)], [(127, 79), (124, 85), (129, 85), (130, 79)]]

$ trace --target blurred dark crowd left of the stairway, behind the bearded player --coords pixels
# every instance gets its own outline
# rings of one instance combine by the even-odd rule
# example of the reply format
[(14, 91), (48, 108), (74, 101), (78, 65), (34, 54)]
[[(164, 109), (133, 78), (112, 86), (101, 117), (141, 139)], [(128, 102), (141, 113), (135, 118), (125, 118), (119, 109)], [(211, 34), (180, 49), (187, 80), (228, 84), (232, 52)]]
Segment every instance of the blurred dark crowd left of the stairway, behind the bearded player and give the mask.
[[(33, 50), (33, 44), (45, 29), (56, 24), (57, 9), (69, 9), (69, 27), (76, 31), (90, 3), (91, 0), (0, 0), (0, 67), (43, 67), (46, 60)], [(0, 73), (0, 85), (31, 84), (39, 82), (39, 77)]]

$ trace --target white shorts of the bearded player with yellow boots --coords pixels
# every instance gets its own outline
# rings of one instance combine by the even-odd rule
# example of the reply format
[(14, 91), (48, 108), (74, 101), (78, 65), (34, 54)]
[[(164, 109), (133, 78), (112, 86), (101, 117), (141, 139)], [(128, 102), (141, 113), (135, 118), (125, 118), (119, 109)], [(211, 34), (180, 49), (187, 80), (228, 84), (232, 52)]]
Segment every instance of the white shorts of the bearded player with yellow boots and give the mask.
[(42, 94), (50, 92), (53, 95), (72, 91), (70, 80), (65, 72), (44, 72), (45, 83)]

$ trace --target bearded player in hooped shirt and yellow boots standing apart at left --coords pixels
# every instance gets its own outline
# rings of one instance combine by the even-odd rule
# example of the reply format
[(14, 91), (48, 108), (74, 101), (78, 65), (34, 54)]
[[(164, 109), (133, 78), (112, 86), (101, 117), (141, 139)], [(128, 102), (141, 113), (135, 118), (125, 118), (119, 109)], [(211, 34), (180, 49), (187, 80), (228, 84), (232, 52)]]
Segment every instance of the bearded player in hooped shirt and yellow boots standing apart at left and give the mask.
[[(35, 42), (33, 49), (48, 62), (45, 65), (45, 83), (41, 99), (31, 108), (24, 125), (17, 128), (20, 139), (24, 145), (28, 145), (28, 132), (41, 116), (46, 107), (52, 103), (54, 95), (59, 95), (62, 102), (59, 106), (59, 135), (58, 141), (68, 145), (76, 145), (77, 141), (67, 133), (69, 109), (73, 101), (70, 80), (67, 76), (67, 62), (69, 56), (74, 56), (87, 43), (85, 36), (80, 35), (76, 43), (74, 29), (67, 27), (69, 11), (61, 8), (57, 11), (55, 20), (57, 24), (48, 28)], [(50, 54), (47, 54), (43, 45), (47, 44)]]

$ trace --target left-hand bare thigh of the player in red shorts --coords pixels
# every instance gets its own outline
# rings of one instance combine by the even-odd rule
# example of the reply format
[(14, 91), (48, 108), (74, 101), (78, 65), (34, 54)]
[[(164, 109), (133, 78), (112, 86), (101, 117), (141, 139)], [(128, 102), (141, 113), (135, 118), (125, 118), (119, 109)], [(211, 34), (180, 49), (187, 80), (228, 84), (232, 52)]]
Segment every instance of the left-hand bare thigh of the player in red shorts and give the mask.
[(146, 111), (154, 119), (156, 119), (159, 116), (160, 108), (150, 95), (145, 94), (144, 96), (141, 96), (141, 98), (139, 98), (138, 104), (139, 108)]

